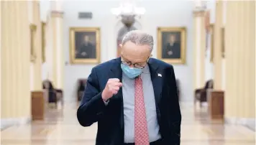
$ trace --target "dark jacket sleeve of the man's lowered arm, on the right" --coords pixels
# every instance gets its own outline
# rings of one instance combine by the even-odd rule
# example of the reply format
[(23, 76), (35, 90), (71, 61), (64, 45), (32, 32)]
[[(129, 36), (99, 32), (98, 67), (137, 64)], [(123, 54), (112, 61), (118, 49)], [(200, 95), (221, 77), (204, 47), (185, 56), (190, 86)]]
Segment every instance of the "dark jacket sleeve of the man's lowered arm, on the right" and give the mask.
[(176, 85), (175, 73), (173, 70), (173, 66), (170, 67), (170, 96), (169, 101), (170, 105), (170, 129), (171, 129), (171, 142), (173, 145), (180, 145), (180, 124), (181, 124), (181, 113), (180, 113), (180, 105), (178, 101), (178, 90)]

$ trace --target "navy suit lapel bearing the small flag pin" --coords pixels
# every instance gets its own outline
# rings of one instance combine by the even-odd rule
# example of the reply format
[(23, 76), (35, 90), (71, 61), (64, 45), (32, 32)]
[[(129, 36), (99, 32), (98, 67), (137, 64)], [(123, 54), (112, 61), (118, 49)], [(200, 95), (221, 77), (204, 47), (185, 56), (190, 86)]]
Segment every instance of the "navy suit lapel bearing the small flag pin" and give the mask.
[(162, 88), (163, 88), (163, 72), (159, 69), (157, 62), (154, 59), (150, 58), (149, 62), (150, 75), (152, 80), (152, 85), (154, 88), (155, 101), (157, 106), (160, 103)]

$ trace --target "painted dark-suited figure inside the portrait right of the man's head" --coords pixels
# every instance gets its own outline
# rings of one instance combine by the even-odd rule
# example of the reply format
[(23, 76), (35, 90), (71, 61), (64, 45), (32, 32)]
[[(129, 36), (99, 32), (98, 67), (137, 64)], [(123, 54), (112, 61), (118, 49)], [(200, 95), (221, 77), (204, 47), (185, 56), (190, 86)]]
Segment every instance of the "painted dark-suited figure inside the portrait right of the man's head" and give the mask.
[(180, 58), (180, 43), (176, 41), (175, 34), (170, 34), (169, 42), (163, 48), (163, 58)]

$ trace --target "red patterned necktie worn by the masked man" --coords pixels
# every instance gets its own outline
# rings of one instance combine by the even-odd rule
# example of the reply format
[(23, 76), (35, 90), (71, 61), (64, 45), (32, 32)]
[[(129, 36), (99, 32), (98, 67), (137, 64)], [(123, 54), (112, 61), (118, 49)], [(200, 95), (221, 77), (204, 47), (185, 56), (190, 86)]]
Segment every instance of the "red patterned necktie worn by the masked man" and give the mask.
[(135, 145), (149, 145), (149, 137), (147, 132), (147, 117), (144, 103), (142, 79), (137, 77), (135, 79)]

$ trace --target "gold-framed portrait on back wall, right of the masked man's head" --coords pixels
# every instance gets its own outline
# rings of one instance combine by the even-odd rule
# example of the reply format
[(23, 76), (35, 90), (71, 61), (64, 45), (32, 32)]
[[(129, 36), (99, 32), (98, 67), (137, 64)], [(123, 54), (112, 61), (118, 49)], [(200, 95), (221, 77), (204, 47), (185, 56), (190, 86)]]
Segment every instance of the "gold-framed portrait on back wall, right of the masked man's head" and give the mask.
[(171, 64), (186, 63), (186, 27), (157, 28), (157, 58)]

